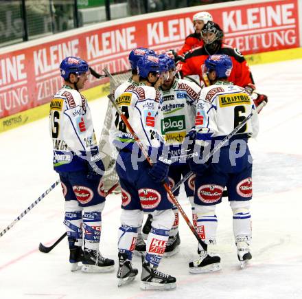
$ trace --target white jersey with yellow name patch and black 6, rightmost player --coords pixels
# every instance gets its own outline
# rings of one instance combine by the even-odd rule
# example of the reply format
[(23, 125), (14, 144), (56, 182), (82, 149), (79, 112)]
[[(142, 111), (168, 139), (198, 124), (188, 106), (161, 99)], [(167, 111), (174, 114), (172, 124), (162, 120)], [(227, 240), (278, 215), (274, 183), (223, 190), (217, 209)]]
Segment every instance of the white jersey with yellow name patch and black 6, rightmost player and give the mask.
[[(205, 87), (196, 103), (196, 131), (210, 133), (211, 137), (226, 136), (250, 114), (255, 105), (242, 87), (231, 82), (218, 81)], [(256, 137), (259, 131), (258, 115), (237, 132)]]

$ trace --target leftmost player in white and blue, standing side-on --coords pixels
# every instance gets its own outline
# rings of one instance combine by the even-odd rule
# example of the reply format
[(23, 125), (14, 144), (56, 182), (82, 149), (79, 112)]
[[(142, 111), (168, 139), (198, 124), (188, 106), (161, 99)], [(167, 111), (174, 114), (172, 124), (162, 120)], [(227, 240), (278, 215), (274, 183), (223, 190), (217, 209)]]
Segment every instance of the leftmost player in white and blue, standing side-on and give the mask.
[[(60, 63), (64, 85), (50, 103), (49, 133), (53, 142), (54, 170), (65, 197), (65, 219), (71, 271), (111, 272), (114, 261), (99, 251), (104, 166), (100, 159), (91, 111), (80, 89), (89, 76), (85, 60), (69, 56)], [(83, 244), (84, 235), (84, 244)], [(84, 245), (84, 252), (82, 246)]]

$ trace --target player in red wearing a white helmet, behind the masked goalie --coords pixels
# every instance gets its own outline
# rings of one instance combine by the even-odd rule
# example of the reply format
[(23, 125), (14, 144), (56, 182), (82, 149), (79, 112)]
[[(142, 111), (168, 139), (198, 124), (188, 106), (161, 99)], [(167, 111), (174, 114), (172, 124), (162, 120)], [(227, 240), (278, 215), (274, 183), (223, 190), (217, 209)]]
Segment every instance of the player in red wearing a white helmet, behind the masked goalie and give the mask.
[(213, 17), (209, 12), (198, 12), (197, 14), (194, 14), (193, 25), (195, 31), (185, 38), (185, 44), (177, 52), (178, 56), (185, 56), (191, 49), (202, 47), (204, 43), (201, 36), (201, 30), (208, 21), (213, 21)]

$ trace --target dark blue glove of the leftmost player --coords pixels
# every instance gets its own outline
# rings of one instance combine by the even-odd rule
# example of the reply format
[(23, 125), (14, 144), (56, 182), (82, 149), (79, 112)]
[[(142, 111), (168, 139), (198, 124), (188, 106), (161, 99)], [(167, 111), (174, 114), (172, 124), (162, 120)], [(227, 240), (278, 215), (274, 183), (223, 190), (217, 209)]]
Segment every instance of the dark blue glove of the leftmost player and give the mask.
[(100, 181), (105, 171), (104, 164), (100, 157), (97, 146), (91, 149), (91, 152), (86, 153), (88, 158), (87, 179), (92, 181)]

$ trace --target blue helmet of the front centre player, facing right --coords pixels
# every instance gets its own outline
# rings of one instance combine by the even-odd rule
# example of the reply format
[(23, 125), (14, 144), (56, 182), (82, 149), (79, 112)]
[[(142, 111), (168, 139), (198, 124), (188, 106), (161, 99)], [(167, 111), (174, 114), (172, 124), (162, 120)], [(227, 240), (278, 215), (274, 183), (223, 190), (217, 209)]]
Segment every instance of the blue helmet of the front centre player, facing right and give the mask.
[(148, 78), (149, 73), (160, 74), (168, 71), (167, 64), (159, 59), (159, 56), (146, 55), (141, 57), (137, 63), (137, 74), (141, 78)]

